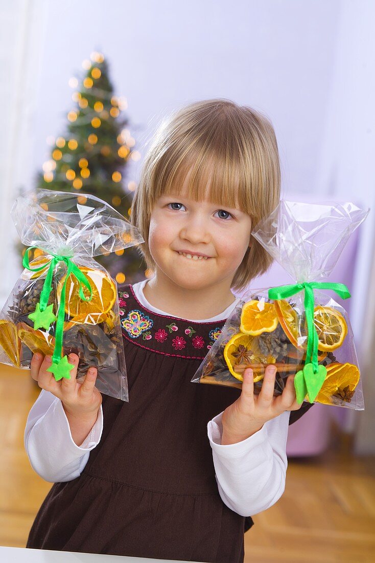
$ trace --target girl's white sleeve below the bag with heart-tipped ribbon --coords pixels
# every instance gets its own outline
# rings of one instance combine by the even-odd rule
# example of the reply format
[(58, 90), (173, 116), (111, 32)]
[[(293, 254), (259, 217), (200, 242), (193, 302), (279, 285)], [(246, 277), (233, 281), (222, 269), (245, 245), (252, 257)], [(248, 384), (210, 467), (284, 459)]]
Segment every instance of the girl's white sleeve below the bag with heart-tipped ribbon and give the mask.
[(207, 425), (219, 494), (234, 512), (253, 516), (272, 506), (284, 492), (290, 411), (265, 422), (245, 440), (228, 445), (222, 445), (222, 415)]

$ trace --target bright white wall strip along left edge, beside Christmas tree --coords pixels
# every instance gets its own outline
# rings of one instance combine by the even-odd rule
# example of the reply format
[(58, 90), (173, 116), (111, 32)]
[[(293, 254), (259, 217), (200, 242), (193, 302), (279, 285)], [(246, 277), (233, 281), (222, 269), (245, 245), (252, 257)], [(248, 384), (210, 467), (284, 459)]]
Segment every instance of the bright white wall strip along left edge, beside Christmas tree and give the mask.
[(35, 167), (34, 111), (40, 77), (40, 39), (45, 29), (43, 1), (0, 4), (0, 308), (16, 282), (19, 258), (10, 218), (21, 186)]

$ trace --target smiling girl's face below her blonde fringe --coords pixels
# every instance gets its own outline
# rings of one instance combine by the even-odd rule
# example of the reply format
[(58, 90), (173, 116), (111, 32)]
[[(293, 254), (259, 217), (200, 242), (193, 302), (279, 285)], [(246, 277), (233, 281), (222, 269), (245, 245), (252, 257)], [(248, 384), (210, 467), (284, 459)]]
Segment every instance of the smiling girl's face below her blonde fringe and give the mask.
[[(164, 275), (186, 289), (214, 284), (231, 287), (249, 247), (251, 218), (246, 213), (188, 196), (162, 195), (151, 213), (148, 245)], [(207, 258), (192, 258), (194, 253)]]

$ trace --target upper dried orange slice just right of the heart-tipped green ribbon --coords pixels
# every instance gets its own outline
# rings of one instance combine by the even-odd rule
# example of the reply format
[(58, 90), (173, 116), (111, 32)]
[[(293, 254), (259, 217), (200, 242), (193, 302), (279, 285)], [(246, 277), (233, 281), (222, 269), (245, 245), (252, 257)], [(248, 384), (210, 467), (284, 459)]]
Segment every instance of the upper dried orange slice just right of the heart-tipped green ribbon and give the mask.
[(319, 350), (328, 352), (342, 345), (347, 334), (347, 324), (339, 311), (333, 307), (315, 307), (314, 324), (319, 338)]

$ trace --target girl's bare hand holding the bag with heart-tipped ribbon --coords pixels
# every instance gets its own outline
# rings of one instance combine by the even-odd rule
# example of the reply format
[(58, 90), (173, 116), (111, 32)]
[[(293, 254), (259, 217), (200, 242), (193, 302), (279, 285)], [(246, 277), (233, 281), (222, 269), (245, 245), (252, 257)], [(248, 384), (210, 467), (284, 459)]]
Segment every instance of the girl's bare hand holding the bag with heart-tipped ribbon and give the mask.
[(276, 369), (268, 365), (259, 395), (254, 395), (254, 377), (251, 368), (243, 373), (242, 392), (240, 397), (223, 412), (222, 445), (236, 444), (246, 440), (259, 431), (265, 422), (277, 417), (286, 410), (301, 408), (296, 401), (293, 375), (287, 378), (281, 395), (274, 397)]

